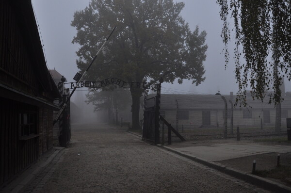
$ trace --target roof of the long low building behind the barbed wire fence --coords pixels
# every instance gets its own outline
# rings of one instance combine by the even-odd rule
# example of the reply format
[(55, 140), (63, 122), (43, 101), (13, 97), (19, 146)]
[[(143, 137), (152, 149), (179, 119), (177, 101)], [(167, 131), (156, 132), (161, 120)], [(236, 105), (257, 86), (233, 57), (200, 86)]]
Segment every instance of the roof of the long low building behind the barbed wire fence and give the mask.
[[(155, 95), (149, 95), (147, 98), (154, 97)], [(224, 95), (227, 101), (227, 108), (230, 109), (230, 101), (235, 104), (236, 96)], [(162, 94), (161, 95), (161, 109), (169, 110), (176, 109), (176, 99), (178, 100), (179, 109), (196, 109), (196, 110), (210, 110), (210, 109), (224, 109), (225, 103), (220, 95), (180, 95), (180, 94)], [(274, 109), (275, 104), (268, 104), (266, 102), (261, 103), (259, 100), (253, 100), (251, 97), (247, 97), (247, 103), (252, 109)], [(147, 107), (153, 106), (154, 100), (147, 101)], [(291, 109), (291, 97), (285, 97), (281, 103), (281, 108)], [(240, 109), (239, 104), (235, 109)]]

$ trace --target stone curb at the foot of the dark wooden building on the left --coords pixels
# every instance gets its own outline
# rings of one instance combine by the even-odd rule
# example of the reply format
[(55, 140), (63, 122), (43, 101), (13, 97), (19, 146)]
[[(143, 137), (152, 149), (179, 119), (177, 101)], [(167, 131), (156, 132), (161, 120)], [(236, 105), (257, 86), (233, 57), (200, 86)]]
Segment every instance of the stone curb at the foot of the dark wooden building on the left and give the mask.
[(15, 188), (11, 190), (11, 193), (22, 193), (25, 189), (32, 183), (32, 181), (37, 177), (43, 169), (49, 165), (49, 163), (56, 157), (56, 155), (60, 152), (60, 150), (55, 150), (55, 152), (48, 158), (47, 161), (42, 163), (40, 166), (35, 167), (30, 174), (22, 174), (26, 175), (26, 177), (16, 185)]

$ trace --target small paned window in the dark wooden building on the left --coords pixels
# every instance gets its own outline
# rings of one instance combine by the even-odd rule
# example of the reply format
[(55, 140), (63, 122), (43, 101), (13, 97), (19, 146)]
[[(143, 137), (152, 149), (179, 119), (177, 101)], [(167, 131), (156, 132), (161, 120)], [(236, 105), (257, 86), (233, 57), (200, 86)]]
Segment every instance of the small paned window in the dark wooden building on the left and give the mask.
[(36, 134), (36, 113), (19, 113), (20, 137)]

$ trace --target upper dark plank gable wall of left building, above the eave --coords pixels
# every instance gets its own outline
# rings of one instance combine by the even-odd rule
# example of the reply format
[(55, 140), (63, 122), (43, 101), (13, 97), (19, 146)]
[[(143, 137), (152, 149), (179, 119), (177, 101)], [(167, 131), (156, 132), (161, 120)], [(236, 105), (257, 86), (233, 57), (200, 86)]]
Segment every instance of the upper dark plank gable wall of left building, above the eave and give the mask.
[(0, 82), (22, 92), (35, 95), (38, 81), (30, 48), (23, 37), (17, 13), (9, 0), (0, 0)]

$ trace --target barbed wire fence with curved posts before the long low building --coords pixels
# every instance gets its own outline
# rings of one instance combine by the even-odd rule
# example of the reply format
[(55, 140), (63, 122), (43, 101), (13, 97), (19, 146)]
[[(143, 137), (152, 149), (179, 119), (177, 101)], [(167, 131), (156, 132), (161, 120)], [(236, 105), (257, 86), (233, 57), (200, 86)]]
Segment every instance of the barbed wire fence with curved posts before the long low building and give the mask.
[[(251, 107), (231, 108), (235, 104), (236, 96), (223, 96), (227, 102), (226, 119), (225, 102), (222, 96), (162, 87), (161, 115), (177, 128), (186, 140), (237, 138), (237, 129), (240, 137), (287, 134), (286, 118), (291, 118), (291, 97), (286, 96), (281, 103), (279, 118), (275, 104), (250, 100)], [(224, 133), (225, 120), (227, 135)], [(162, 134), (162, 123), (160, 133)], [(163, 133), (167, 138), (166, 127)], [(172, 135), (172, 138), (173, 141), (179, 141), (175, 135)]]

